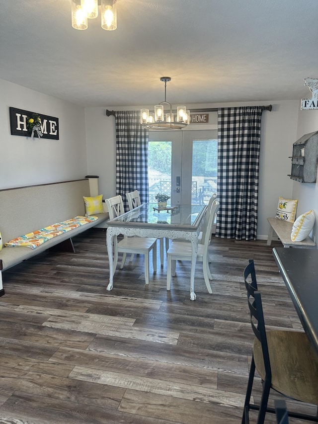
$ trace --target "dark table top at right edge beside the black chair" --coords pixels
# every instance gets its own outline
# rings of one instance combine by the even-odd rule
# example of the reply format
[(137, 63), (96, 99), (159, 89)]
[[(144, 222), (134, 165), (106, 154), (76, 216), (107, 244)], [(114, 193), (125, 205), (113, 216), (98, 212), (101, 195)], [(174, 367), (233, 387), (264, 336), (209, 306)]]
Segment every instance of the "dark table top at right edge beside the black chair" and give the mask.
[(318, 250), (274, 248), (273, 255), (304, 330), (318, 353)]

